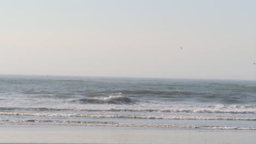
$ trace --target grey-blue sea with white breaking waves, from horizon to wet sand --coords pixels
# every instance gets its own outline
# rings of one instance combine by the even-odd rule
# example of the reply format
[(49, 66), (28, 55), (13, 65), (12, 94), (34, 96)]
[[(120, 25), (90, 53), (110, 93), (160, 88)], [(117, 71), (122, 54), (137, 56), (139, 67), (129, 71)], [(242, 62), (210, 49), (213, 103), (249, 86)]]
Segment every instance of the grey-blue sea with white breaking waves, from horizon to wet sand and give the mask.
[(256, 81), (0, 75), (0, 124), (256, 130)]

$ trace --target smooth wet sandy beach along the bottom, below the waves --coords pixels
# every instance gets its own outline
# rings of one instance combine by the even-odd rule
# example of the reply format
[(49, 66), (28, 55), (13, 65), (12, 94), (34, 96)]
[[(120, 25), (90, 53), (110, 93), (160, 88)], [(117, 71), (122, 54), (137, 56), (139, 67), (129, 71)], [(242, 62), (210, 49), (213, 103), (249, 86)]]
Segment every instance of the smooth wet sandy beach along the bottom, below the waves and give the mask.
[(254, 143), (256, 131), (0, 125), (0, 143)]

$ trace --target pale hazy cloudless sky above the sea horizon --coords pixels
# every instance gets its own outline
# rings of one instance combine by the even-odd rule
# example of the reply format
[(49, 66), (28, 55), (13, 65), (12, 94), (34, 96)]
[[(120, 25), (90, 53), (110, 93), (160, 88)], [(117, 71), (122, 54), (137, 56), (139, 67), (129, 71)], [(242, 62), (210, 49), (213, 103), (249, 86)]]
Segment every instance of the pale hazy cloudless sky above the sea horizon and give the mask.
[(0, 74), (255, 80), (255, 7), (0, 0)]

